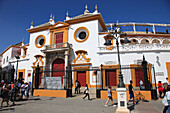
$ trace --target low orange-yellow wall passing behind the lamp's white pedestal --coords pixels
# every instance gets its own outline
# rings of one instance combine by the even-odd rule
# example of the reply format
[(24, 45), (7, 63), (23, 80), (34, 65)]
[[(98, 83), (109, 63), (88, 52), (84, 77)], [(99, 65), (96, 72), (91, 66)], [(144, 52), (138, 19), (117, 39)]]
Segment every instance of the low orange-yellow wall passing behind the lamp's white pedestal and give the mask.
[[(117, 91), (112, 91), (112, 98), (117, 99)], [(107, 99), (108, 91), (101, 91), (101, 99)], [(151, 91), (135, 91), (135, 99), (151, 100)], [(129, 99), (129, 91), (127, 91), (127, 99)]]

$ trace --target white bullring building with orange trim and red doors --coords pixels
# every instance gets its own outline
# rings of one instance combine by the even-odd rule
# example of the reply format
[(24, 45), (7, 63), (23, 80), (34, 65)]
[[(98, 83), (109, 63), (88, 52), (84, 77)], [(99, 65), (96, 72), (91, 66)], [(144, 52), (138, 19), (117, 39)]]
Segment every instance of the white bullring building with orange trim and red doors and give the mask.
[[(139, 68), (143, 56), (148, 62), (149, 83), (157, 84), (170, 78), (170, 24), (105, 23), (96, 6), (94, 12), (89, 12), (86, 7), (75, 17), (69, 17), (67, 12), (63, 22), (55, 22), (53, 15), (41, 25), (32, 22), (27, 29), (29, 43), (22, 41), (10, 45), (1, 53), (1, 80), (10, 82), (17, 77), (32, 83), (39, 65), (41, 88), (47, 87), (47, 77), (60, 77), (61, 89), (74, 88), (76, 80), (82, 87), (86, 84), (89, 88), (117, 87), (119, 63), (116, 39), (109, 37), (112, 45), (104, 45), (115, 25), (127, 34), (118, 39), (125, 86), (130, 80), (133, 80), (134, 87), (139, 86), (139, 80), (144, 82), (143, 70)], [(159, 27), (165, 30), (159, 31)], [(130, 41), (127, 44), (122, 41), (125, 37)]]

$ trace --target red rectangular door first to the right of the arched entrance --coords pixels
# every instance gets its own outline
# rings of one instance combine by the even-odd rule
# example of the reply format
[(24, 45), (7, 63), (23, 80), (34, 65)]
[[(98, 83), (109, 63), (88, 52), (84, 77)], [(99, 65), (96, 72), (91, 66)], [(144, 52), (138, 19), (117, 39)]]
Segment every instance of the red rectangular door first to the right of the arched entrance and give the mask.
[(86, 71), (78, 71), (77, 80), (80, 82), (81, 86), (86, 86)]

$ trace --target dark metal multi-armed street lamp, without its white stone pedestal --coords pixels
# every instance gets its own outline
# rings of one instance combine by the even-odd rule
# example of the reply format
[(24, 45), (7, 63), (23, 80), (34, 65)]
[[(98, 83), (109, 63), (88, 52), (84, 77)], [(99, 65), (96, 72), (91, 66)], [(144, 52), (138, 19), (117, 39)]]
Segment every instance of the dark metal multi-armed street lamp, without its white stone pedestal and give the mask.
[[(106, 42), (104, 43), (104, 45), (106, 46), (111, 46), (111, 39), (114, 38), (116, 39), (116, 46), (117, 46), (117, 55), (118, 55), (118, 64), (119, 64), (119, 84), (118, 87), (125, 87), (125, 84), (123, 82), (123, 74), (122, 74), (122, 70), (121, 70), (121, 63), (120, 63), (120, 53), (119, 53), (119, 41), (118, 39), (120, 38), (120, 36), (126, 36), (125, 34), (122, 34), (121, 28), (117, 27), (116, 24), (114, 24), (115, 29), (113, 30), (113, 28), (111, 27), (111, 30), (109, 30), (109, 35), (107, 35), (106, 38)], [(124, 40), (121, 40), (121, 43), (130, 43), (130, 41), (125, 37)]]

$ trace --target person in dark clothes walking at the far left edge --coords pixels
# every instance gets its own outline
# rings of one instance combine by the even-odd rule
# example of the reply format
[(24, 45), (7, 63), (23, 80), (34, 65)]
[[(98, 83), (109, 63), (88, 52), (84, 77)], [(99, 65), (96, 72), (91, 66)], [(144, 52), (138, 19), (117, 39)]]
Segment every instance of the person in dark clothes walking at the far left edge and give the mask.
[(9, 107), (9, 90), (8, 90), (8, 85), (5, 86), (5, 88), (3, 88), (2, 91), (2, 102), (1, 102), (1, 107), (3, 107), (3, 102), (7, 102), (7, 106)]

